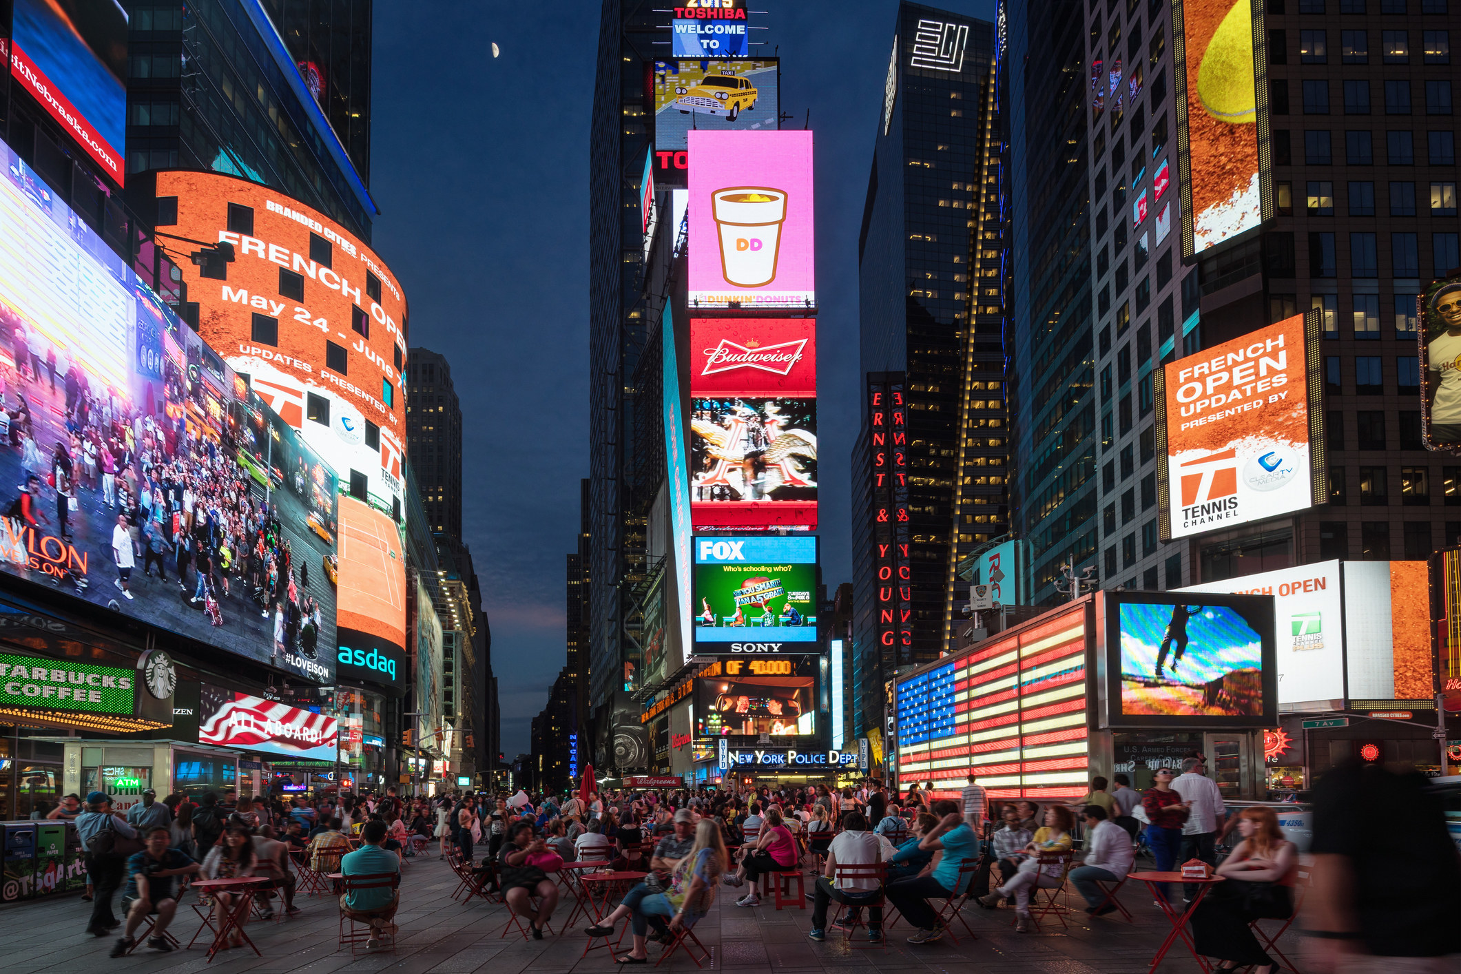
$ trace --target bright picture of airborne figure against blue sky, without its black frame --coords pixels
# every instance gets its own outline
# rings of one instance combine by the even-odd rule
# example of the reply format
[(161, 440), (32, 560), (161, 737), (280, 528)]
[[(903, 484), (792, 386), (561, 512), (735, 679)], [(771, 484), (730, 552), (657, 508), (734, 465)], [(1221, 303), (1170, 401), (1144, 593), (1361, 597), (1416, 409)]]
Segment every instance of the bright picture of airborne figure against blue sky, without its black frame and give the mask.
[(1233, 606), (1121, 605), (1125, 716), (1261, 717), (1262, 662), (1262, 635)]

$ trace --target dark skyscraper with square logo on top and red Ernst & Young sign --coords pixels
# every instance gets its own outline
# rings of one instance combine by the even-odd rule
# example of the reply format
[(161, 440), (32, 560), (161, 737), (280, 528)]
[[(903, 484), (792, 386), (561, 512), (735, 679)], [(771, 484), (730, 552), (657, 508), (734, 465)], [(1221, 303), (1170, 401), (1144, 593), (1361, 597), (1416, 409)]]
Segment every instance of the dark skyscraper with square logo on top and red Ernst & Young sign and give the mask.
[(906, 492), (891, 508), (874, 498), (868, 400), (853, 456), (855, 736), (881, 724), (893, 667), (950, 645), (954, 568), (1007, 530), (995, 25), (903, 3), (891, 47), (858, 241), (861, 353), (869, 396), (878, 374), (907, 399)]

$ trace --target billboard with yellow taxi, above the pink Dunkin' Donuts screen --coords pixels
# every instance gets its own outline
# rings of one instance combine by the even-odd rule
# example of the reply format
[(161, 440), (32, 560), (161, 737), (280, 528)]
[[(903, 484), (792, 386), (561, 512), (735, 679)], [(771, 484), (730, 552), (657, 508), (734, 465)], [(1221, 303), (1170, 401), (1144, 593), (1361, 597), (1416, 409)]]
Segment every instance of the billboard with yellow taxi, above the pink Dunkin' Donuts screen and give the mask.
[(779, 72), (774, 57), (655, 61), (655, 150), (690, 149), (691, 131), (776, 131)]

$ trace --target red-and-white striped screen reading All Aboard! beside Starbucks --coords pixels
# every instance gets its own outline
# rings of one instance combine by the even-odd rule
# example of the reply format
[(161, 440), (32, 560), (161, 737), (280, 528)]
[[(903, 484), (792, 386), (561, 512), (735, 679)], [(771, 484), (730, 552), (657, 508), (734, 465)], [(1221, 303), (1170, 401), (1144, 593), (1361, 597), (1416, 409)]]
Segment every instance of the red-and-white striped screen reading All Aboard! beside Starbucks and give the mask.
[(335, 761), (337, 724), (333, 717), (203, 683), (197, 739), (285, 758)]

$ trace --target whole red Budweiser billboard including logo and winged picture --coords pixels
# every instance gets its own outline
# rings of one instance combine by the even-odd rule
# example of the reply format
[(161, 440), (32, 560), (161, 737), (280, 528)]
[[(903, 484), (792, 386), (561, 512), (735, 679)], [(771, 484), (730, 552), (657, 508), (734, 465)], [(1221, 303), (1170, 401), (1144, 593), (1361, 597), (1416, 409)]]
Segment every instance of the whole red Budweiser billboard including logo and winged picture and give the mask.
[(691, 318), (695, 530), (817, 527), (812, 318)]

